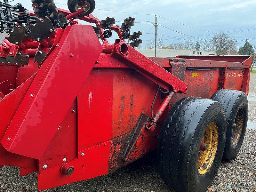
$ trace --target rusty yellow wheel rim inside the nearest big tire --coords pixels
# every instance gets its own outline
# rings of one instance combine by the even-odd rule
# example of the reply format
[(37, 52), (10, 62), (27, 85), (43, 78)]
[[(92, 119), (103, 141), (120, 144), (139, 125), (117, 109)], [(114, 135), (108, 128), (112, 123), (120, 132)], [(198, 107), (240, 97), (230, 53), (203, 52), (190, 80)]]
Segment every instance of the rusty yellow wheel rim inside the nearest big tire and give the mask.
[[(209, 124), (201, 139), (201, 147), (197, 160), (197, 169), (201, 175), (207, 173), (212, 166), (218, 148), (218, 139), (219, 131), (217, 124)], [(204, 148), (202, 147), (203, 144)]]

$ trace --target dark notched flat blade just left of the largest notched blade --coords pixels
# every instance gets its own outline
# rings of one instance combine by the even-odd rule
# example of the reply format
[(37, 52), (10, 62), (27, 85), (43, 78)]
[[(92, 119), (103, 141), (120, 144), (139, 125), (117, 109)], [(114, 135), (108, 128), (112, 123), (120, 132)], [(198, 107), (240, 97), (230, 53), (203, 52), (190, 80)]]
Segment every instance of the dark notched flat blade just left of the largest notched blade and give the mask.
[(6, 37), (6, 39), (13, 44), (20, 44), (24, 39), (26, 39), (26, 32), (28, 32), (28, 29), (24, 26), (21, 25), (20, 28), (16, 27), (15, 25), (13, 26), (14, 31), (7, 31), (10, 36)]

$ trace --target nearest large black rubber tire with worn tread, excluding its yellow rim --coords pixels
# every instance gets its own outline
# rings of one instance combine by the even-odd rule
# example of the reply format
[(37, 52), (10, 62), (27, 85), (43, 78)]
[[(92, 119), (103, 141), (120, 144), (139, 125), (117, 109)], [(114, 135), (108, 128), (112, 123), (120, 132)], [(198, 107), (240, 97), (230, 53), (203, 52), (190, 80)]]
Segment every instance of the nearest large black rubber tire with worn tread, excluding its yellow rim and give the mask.
[[(210, 123), (219, 130), (216, 156), (208, 172), (197, 169), (201, 138)], [(162, 126), (157, 146), (157, 170), (175, 191), (206, 191), (220, 166), (226, 140), (223, 106), (216, 101), (189, 97), (178, 101)]]

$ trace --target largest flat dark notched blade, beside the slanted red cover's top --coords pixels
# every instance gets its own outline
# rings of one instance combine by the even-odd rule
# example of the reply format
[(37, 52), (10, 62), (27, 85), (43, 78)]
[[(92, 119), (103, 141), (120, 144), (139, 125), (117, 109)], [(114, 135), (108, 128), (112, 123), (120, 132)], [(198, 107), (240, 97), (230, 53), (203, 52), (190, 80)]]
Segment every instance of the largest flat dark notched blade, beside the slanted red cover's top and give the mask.
[(48, 17), (45, 17), (44, 21), (40, 21), (39, 18), (36, 18), (36, 25), (29, 25), (29, 28), (31, 31), (27, 33), (28, 37), (37, 42), (41, 42), (54, 31), (52, 22)]

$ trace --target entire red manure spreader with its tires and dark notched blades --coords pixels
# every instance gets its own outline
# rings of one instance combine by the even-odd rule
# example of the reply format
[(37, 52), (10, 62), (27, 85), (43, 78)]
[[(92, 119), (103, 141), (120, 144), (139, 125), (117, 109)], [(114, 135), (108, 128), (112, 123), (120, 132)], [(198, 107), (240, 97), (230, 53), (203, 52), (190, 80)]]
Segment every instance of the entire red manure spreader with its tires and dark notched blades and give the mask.
[(170, 188), (205, 191), (221, 159), (236, 157), (252, 57), (147, 58), (132, 17), (120, 28), (91, 14), (94, 0), (68, 0), (70, 11), (53, 0), (32, 5), (0, 2), (0, 165), (37, 172), (43, 190), (156, 149)]

